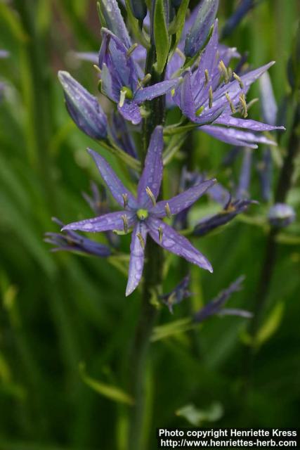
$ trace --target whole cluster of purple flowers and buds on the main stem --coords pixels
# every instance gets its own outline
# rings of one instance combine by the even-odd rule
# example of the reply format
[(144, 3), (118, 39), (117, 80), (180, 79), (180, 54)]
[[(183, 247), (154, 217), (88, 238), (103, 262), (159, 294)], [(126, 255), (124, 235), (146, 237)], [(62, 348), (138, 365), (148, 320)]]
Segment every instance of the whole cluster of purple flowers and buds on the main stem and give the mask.
[[(249, 179), (249, 152), (234, 198), (220, 185), (215, 185), (215, 179), (207, 180), (203, 174), (195, 172), (190, 174), (190, 186), (185, 186), (171, 199), (162, 200), (164, 135), (183, 133), (186, 136), (188, 130), (195, 128), (233, 146), (250, 149), (256, 148), (258, 143), (275, 145), (263, 132), (283, 128), (273, 121), (265, 124), (248, 118), (249, 88), (273, 62), (255, 70), (245, 68), (243, 61), (235, 63), (234, 69), (230, 67), (240, 55), (236, 49), (219, 44), (216, 19), (219, 0), (203, 0), (190, 13), (188, 2), (152, 1), (149, 4), (150, 13), (145, 2), (131, 0), (126, 4), (131, 8), (129, 18), (134, 25), (134, 33), (130, 34), (117, 0), (101, 0), (100, 51), (96, 56), (91, 53), (79, 56), (97, 64), (98, 88), (112, 103), (111, 113), (105, 113), (98, 98), (68, 72), (58, 73), (72, 120), (91, 139), (129, 165), (131, 181), (137, 181), (137, 192), (133, 195), (105, 158), (89, 149), (103, 181), (122, 210), (109, 212), (93, 207), (96, 217), (63, 226), (65, 236), (51, 233), (47, 240), (60, 249), (103, 257), (109, 255), (106, 246), (81, 238), (74, 230), (105, 232), (111, 245), (112, 233), (132, 233), (126, 295), (141, 281), (148, 236), (165, 250), (212, 272), (207, 258), (178, 232), (186, 227), (190, 207), (204, 193), (215, 199), (221, 195), (223, 210), (197, 224), (193, 236), (204, 236), (254, 203), (244, 195)], [(181, 120), (169, 124), (167, 129), (156, 123), (145, 158), (138, 158), (141, 149), (131, 131), (141, 133), (141, 122), (148, 120), (151, 102), (161, 96), (166, 97), (167, 109), (178, 109)], [(179, 150), (181, 144), (176, 143), (176, 146)], [(94, 205), (93, 201), (90, 203)], [(174, 227), (164, 221), (176, 214)], [(179, 297), (188, 295), (186, 280), (179, 291)], [(164, 300), (169, 304), (167, 297)]]

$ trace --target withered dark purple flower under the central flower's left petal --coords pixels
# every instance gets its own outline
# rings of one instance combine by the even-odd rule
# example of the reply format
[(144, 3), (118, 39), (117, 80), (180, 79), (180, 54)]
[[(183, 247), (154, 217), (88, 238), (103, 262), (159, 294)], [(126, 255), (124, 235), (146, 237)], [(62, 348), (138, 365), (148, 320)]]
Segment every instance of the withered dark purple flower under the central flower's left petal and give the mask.
[[(62, 221), (53, 217), (53, 221), (60, 225), (64, 225)], [(45, 233), (45, 242), (56, 245), (51, 249), (52, 252), (67, 251), (80, 252), (86, 255), (94, 255), (98, 257), (108, 257), (111, 254), (110, 248), (107, 245), (94, 242), (91, 239), (84, 238), (74, 231), (64, 231), (63, 233)]]

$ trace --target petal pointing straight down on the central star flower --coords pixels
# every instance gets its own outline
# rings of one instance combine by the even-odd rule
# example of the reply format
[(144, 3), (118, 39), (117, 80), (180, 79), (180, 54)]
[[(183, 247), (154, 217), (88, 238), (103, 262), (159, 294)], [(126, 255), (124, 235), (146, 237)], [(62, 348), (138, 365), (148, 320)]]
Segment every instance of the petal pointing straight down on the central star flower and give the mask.
[[(138, 237), (138, 233), (140, 233), (140, 237)], [(138, 221), (133, 229), (131, 236), (130, 262), (128, 282), (126, 286), (126, 297), (133, 293), (133, 290), (137, 288), (138, 283), (140, 283), (143, 275), (145, 248), (143, 248), (143, 243), (141, 243), (140, 240), (141, 238), (143, 239), (143, 243), (145, 244), (147, 238), (147, 227), (143, 222)]]

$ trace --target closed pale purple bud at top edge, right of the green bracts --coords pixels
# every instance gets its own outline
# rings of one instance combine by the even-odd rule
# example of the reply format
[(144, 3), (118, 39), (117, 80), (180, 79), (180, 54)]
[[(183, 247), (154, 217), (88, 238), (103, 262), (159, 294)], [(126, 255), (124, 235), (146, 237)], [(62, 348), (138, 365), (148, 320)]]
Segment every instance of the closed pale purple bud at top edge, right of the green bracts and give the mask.
[(211, 25), (216, 18), (219, 0), (202, 0), (202, 4), (197, 13), (195, 22), (193, 23), (188, 36), (185, 39), (185, 56), (192, 58), (204, 46)]

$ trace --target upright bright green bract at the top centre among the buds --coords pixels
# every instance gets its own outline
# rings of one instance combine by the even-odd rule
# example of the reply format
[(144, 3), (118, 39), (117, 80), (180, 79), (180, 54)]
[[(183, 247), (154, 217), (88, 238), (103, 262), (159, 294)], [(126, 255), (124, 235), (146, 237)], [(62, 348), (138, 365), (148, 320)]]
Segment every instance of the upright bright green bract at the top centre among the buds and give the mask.
[(167, 30), (166, 13), (164, 11), (164, 0), (157, 0), (155, 2), (153, 20), (154, 40), (157, 54), (156, 70), (161, 74), (169, 56), (169, 34)]

